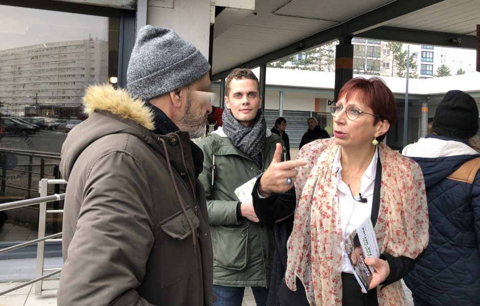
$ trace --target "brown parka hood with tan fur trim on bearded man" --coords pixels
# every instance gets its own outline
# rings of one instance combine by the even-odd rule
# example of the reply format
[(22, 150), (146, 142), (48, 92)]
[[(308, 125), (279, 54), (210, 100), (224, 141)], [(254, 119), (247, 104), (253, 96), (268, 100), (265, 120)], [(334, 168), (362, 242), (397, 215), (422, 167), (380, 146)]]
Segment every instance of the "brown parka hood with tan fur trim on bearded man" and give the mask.
[(68, 180), (77, 158), (94, 141), (111, 134), (130, 134), (159, 150), (152, 111), (123, 89), (93, 85), (85, 90), (84, 112), (88, 119), (68, 133), (62, 145), (60, 171)]

